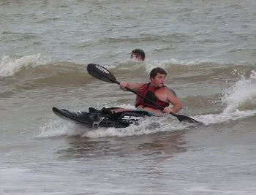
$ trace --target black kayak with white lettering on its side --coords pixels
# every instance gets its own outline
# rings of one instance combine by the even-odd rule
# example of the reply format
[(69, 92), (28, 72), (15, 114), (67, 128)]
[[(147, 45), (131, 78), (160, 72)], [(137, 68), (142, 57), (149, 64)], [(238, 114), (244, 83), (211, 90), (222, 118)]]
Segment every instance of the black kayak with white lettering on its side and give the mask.
[(150, 113), (142, 110), (112, 113), (111, 110), (115, 110), (117, 108), (118, 107), (103, 107), (102, 110), (97, 110), (93, 107), (89, 107), (89, 112), (70, 112), (69, 110), (53, 107), (53, 112), (65, 121), (70, 121), (72, 123), (88, 126), (91, 128), (125, 128), (132, 124), (138, 125), (141, 119), (152, 116)]

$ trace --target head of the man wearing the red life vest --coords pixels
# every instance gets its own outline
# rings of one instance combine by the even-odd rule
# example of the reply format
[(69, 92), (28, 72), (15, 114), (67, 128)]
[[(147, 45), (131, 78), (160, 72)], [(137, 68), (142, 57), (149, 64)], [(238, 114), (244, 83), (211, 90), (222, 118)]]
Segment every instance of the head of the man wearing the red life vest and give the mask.
[(151, 80), (151, 85), (161, 88), (163, 85), (165, 85), (166, 75), (167, 72), (160, 67), (152, 69), (149, 77)]

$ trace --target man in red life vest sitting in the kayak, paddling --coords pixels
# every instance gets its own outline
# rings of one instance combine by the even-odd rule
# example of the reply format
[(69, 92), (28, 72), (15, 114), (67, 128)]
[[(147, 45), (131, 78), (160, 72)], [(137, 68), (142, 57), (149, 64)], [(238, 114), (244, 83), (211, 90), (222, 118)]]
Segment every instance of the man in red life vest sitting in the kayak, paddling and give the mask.
[[(151, 83), (127, 83), (121, 82), (120, 88), (123, 91), (126, 91), (126, 88), (130, 88), (140, 95), (145, 96), (147, 99), (150, 99), (152, 102), (159, 104), (161, 107), (164, 107), (164, 110), (159, 110), (155, 104), (148, 102), (146, 99), (137, 96), (135, 107), (136, 110), (145, 110), (151, 112), (152, 114), (159, 114), (162, 112), (166, 113), (177, 113), (183, 108), (180, 100), (176, 96), (176, 93), (165, 86), (165, 78), (167, 72), (164, 69), (157, 67), (151, 70), (150, 80)], [(173, 107), (169, 107), (169, 104), (173, 104)], [(122, 112), (129, 109), (119, 108), (113, 110), (113, 112)]]

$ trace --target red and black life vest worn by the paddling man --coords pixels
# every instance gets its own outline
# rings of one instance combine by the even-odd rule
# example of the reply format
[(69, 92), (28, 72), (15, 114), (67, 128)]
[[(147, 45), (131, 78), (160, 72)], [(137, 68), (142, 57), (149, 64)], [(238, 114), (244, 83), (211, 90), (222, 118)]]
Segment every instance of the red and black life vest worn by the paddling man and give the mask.
[[(163, 86), (163, 87), (165, 87), (165, 86)], [(162, 107), (168, 107), (169, 102), (163, 102), (162, 100), (159, 100), (157, 98), (157, 96), (154, 94), (154, 92), (157, 89), (159, 89), (159, 88), (152, 87), (152, 86), (150, 86), (150, 83), (148, 83), (148, 84), (142, 85), (140, 90), (138, 91), (138, 93), (140, 93), (140, 95), (150, 99), (151, 101), (156, 102), (157, 104), (159, 104)], [(138, 107), (140, 105), (143, 105), (143, 107), (151, 107), (151, 108), (159, 110), (159, 107), (157, 107), (157, 105), (154, 105), (151, 102), (148, 102), (146, 99), (143, 99), (142, 97), (137, 96), (136, 102), (135, 102), (135, 107)]]

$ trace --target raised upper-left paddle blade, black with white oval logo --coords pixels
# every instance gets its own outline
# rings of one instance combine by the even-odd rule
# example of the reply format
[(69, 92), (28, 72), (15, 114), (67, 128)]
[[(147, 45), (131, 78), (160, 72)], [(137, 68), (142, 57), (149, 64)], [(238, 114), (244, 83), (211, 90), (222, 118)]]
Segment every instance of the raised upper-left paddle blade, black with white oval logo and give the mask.
[(98, 64), (88, 64), (87, 72), (89, 72), (91, 76), (97, 78), (98, 80), (102, 80), (108, 83), (118, 83), (116, 81), (116, 77), (114, 77), (114, 75), (109, 72), (108, 69), (105, 69), (103, 66)]

